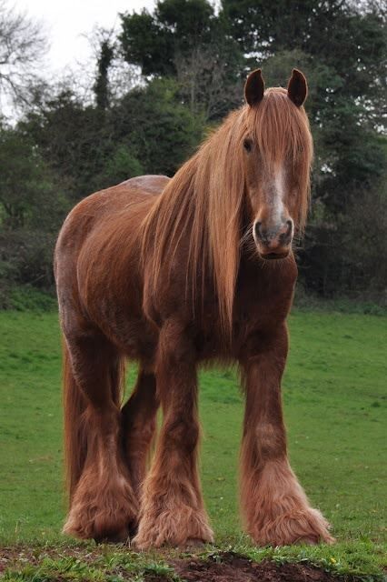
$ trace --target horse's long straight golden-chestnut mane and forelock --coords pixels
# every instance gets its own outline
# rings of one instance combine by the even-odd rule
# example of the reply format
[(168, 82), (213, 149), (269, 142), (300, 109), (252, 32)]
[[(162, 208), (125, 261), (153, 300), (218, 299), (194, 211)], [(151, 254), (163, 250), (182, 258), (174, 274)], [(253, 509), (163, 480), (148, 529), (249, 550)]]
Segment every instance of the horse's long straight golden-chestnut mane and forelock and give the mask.
[(171, 269), (176, 249), (184, 243), (186, 296), (191, 292), (194, 300), (199, 272), (202, 285), (211, 276), (221, 324), (229, 333), (243, 236), (246, 135), (257, 142), (266, 164), (290, 157), (300, 168), (296, 228), (302, 231), (313, 142), (303, 107), (293, 105), (281, 88), (268, 89), (259, 105), (245, 105), (229, 115), (164, 188), (142, 226), (142, 256), (151, 273), (146, 292), (157, 293), (162, 269)]

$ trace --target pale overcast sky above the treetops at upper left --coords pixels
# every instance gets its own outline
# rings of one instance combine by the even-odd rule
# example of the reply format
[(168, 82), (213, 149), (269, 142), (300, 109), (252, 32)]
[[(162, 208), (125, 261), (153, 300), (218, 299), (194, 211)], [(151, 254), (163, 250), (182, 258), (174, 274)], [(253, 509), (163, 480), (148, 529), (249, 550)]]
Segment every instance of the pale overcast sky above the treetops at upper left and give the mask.
[(95, 25), (111, 29), (119, 24), (119, 12), (152, 9), (154, 0), (14, 0), (8, 5), (45, 25), (50, 43), (45, 61), (52, 73), (87, 60), (91, 48), (84, 35)]

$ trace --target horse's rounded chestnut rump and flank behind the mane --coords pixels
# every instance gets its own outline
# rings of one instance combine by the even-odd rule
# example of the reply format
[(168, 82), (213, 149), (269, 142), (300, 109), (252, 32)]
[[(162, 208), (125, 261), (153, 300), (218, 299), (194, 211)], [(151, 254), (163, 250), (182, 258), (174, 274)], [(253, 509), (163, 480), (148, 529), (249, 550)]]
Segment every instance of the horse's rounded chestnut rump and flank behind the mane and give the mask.
[[(139, 236), (144, 217), (167, 182), (165, 176), (132, 178), (87, 196), (66, 218), (55, 249), (55, 279), (65, 333), (73, 331), (66, 329), (66, 322), (72, 326), (69, 312), (73, 312), (78, 324), (79, 317), (84, 317), (90, 326), (119, 341), (122, 314), (129, 310), (133, 336), (138, 335), (140, 326), (144, 335)], [(127, 330), (124, 336), (127, 339)], [(126, 343), (133, 345), (133, 341)], [(124, 350), (127, 346), (121, 347)], [(131, 355), (140, 356), (135, 351)]]

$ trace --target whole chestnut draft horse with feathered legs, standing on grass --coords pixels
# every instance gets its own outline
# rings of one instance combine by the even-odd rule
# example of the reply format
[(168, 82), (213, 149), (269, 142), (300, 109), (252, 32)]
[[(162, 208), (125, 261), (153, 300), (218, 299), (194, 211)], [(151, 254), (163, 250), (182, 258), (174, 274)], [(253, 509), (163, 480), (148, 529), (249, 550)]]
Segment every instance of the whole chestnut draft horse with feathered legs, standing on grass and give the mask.
[[(257, 544), (332, 541), (289, 465), (281, 401), (294, 233), (313, 143), (293, 70), (261, 70), (169, 179), (133, 178), (74, 207), (55, 251), (65, 351), (64, 531), (138, 548), (211, 542), (197, 468), (197, 368), (236, 362), (245, 393), (241, 504)], [(136, 360), (122, 406), (124, 360)], [(156, 413), (163, 426), (146, 472)]]

